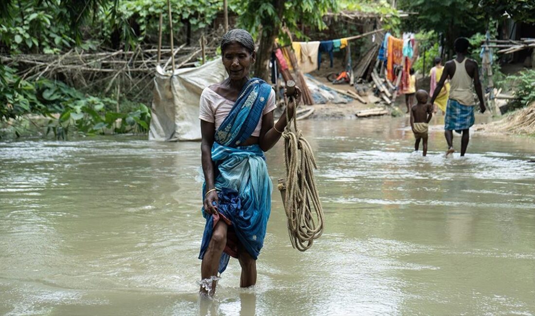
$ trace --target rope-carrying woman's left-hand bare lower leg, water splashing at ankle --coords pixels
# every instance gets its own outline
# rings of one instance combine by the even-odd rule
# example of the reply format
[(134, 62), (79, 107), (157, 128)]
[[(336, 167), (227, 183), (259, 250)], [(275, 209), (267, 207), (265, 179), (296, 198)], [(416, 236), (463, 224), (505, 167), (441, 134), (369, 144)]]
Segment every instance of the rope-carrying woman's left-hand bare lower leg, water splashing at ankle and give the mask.
[[(212, 238), (208, 244), (208, 249), (204, 253), (201, 263), (201, 279), (209, 279), (212, 276), (217, 276), (217, 269), (219, 267), (219, 260), (221, 253), (225, 249), (227, 243), (227, 224), (224, 221), (219, 221), (216, 227), (213, 228)], [(212, 281), (210, 295), (216, 291), (216, 281)], [(208, 290), (201, 284), (201, 293), (208, 294)]]

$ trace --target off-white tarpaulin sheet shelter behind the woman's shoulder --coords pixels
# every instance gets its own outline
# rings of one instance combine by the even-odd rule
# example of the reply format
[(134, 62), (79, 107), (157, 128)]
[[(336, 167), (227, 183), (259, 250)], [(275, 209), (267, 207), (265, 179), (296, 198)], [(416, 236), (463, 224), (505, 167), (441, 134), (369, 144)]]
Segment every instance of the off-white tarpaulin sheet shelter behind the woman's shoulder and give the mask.
[(150, 141), (195, 141), (201, 139), (199, 99), (202, 90), (227, 78), (221, 58), (193, 68), (165, 73), (156, 67)]

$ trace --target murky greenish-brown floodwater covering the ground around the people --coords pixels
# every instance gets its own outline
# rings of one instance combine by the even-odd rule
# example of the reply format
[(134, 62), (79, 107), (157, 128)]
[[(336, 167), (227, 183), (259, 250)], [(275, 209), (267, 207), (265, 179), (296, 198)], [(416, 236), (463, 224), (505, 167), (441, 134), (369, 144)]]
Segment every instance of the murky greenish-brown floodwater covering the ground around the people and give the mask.
[(0, 143), (0, 314), (533, 315), (535, 138), (475, 133), (447, 159), (441, 120), (426, 158), (408, 118), (300, 121), (325, 233), (292, 249), (275, 186), (257, 285), (240, 289), (231, 259), (212, 300), (199, 143)]

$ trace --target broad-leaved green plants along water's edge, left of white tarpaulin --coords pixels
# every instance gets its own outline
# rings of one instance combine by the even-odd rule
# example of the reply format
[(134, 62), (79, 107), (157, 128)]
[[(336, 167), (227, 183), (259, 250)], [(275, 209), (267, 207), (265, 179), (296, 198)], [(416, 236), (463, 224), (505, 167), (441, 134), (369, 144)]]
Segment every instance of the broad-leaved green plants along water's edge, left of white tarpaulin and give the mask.
[(113, 111), (117, 105), (113, 99), (86, 96), (58, 81), (28, 82), (5, 66), (0, 66), (0, 83), (0, 104), (6, 105), (0, 107), (0, 121), (41, 114), (51, 118), (47, 134), (53, 132), (58, 138), (65, 138), (69, 131), (91, 135), (106, 130), (113, 133), (148, 130), (150, 110), (141, 103), (128, 113), (117, 113)]

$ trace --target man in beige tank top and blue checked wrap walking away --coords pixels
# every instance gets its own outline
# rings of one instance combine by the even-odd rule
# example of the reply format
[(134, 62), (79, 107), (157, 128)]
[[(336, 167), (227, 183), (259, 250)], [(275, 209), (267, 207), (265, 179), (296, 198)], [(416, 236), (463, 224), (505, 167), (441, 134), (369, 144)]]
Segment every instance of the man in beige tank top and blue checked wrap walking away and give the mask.
[(453, 153), (453, 130), (457, 133), (462, 132), (461, 138), (461, 156), (467, 151), (468, 141), (470, 140), (470, 127), (475, 121), (474, 101), (472, 95), (472, 81), (479, 98), (479, 108), (481, 113), (485, 112), (483, 102), (483, 91), (479, 81), (478, 66), (475, 60), (468, 59), (468, 47), (470, 43), (464, 37), (459, 37), (454, 42), (457, 57), (450, 60), (444, 66), (444, 71), (437, 83), (430, 103), (433, 104), (435, 98), (440, 93), (446, 79), (450, 79), (449, 99), (446, 107), (446, 118), (444, 120), (444, 136), (448, 143), (446, 156)]

